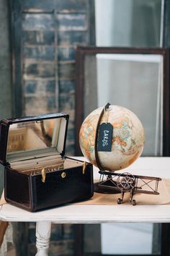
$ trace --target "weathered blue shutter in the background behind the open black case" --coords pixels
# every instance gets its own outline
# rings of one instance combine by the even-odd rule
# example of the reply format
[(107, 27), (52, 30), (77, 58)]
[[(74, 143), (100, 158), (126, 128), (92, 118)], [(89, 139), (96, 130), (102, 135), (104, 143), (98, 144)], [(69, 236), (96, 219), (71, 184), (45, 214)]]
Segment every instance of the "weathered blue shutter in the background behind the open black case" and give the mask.
[[(20, 67), (22, 116), (64, 111), (70, 115), (66, 143), (67, 155), (74, 153), (75, 48), (89, 45), (91, 9), (88, 0), (23, 1), (14, 18), (20, 19)], [(93, 1), (90, 1), (91, 3)], [(14, 10), (15, 12), (15, 10)], [(18, 17), (18, 15), (20, 15)], [(15, 17), (14, 16), (14, 17)], [(93, 36), (94, 37), (94, 36)], [(14, 32), (14, 43), (19, 38)], [(14, 50), (17, 64), (19, 54)], [(17, 72), (16, 72), (17, 76)], [(18, 86), (18, 85), (17, 85)], [(18, 89), (16, 89), (18, 90)], [(17, 93), (16, 93), (17, 95)], [(17, 99), (17, 104), (20, 99)]]

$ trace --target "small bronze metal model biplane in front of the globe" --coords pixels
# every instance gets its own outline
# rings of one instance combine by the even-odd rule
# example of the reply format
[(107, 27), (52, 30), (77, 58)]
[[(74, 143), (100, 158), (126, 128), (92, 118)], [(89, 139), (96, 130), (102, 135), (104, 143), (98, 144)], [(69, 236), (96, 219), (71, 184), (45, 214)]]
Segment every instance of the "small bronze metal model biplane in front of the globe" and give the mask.
[(125, 192), (130, 192), (130, 202), (133, 205), (136, 204), (133, 195), (137, 193), (159, 195), (158, 182), (161, 178), (133, 175), (128, 172), (118, 174), (112, 171), (99, 171), (99, 174), (98, 192), (121, 192), (121, 197), (117, 198), (118, 204), (123, 202)]

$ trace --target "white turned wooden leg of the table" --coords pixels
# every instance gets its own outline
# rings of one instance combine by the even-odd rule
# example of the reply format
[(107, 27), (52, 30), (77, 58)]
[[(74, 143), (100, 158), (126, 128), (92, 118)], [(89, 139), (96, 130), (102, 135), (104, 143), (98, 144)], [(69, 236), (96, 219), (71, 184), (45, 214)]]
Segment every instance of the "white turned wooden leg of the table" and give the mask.
[(36, 247), (37, 254), (35, 256), (48, 256), (48, 248), (50, 243), (50, 221), (38, 221), (36, 225)]

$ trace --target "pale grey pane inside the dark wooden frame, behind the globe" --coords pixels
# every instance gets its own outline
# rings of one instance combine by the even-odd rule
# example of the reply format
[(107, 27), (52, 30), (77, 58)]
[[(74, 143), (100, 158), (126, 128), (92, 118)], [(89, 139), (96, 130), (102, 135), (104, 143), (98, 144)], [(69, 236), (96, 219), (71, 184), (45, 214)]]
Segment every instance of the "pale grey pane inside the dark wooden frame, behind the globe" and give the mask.
[(97, 54), (98, 106), (109, 102), (139, 117), (146, 133), (143, 155), (162, 155), (162, 69), (159, 55)]

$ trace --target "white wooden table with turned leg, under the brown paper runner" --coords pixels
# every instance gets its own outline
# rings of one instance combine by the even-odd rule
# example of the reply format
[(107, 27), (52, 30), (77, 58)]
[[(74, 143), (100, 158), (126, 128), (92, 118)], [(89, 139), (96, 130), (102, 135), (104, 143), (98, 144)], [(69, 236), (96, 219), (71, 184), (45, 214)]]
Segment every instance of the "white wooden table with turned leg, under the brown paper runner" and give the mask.
[[(131, 174), (159, 176), (170, 179), (170, 158), (139, 158), (123, 171)], [(94, 168), (94, 179), (99, 177)], [(29, 213), (6, 204), (0, 207), (1, 221), (35, 221), (36, 256), (47, 256), (51, 223), (114, 223), (151, 222), (169, 223), (170, 205), (64, 205), (52, 210)]]

